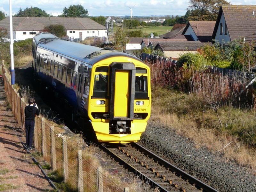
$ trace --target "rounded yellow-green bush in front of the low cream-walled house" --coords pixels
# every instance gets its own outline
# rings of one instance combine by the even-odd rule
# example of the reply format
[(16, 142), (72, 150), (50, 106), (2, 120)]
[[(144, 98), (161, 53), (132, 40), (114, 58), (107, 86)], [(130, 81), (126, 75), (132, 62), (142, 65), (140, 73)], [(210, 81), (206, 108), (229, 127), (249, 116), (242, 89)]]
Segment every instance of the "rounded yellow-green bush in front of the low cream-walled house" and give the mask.
[(183, 68), (202, 69), (207, 62), (199, 53), (185, 53), (181, 55), (177, 64), (179, 67), (183, 66)]

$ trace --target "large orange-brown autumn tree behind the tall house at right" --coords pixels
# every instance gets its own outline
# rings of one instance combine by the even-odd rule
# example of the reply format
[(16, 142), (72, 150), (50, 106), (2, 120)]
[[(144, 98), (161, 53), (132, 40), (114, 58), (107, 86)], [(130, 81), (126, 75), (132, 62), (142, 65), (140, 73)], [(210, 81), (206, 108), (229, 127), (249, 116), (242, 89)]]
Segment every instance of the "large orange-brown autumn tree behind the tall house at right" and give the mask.
[(189, 20), (212, 20), (217, 19), (220, 5), (229, 4), (225, 0), (190, 0), (187, 10), (191, 10)]

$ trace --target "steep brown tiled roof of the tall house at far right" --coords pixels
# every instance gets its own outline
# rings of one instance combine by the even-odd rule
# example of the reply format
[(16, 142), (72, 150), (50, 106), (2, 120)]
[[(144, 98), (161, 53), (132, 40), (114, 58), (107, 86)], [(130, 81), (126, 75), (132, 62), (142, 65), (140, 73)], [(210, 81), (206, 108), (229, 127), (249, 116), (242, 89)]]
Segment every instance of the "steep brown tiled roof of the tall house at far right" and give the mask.
[(256, 32), (256, 5), (221, 5), (212, 38), (216, 36), (222, 13), (231, 41)]

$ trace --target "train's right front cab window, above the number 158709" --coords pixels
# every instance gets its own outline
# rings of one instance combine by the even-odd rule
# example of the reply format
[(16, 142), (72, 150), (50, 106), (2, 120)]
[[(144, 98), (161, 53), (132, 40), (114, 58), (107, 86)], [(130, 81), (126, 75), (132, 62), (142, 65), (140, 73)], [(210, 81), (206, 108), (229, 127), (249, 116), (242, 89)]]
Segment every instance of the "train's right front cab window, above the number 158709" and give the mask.
[(148, 99), (148, 77), (135, 77), (135, 99)]

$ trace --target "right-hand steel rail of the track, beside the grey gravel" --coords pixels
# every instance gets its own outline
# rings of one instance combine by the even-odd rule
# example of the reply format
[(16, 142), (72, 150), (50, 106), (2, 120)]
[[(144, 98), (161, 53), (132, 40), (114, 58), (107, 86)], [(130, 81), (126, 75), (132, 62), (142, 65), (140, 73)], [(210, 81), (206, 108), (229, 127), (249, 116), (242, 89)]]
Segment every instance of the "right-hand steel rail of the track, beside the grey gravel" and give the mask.
[(182, 171), (181, 169), (179, 169), (178, 167), (174, 166), (173, 164), (165, 161), (163, 158), (157, 156), (156, 154), (152, 153), (151, 151), (149, 151), (148, 149), (142, 147), (140, 144), (138, 143), (131, 143), (132, 146), (134, 146), (135, 148), (141, 150), (142, 152), (146, 153), (147, 155), (151, 156), (152, 158), (154, 158), (154, 160), (158, 161), (158, 163), (163, 164), (165, 167), (171, 169), (171, 171), (174, 171), (180, 175), (182, 175), (185, 179), (195, 183), (197, 186), (203, 188), (204, 191), (207, 192), (218, 192), (216, 189), (210, 187), (209, 185), (205, 184), (204, 182), (196, 179), (195, 177), (189, 175), (188, 173)]

